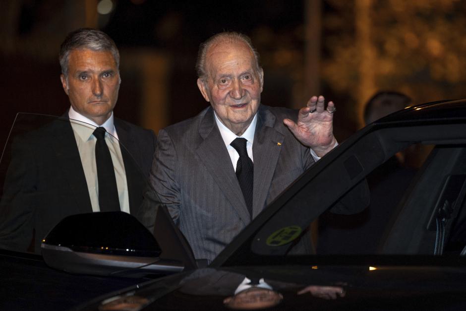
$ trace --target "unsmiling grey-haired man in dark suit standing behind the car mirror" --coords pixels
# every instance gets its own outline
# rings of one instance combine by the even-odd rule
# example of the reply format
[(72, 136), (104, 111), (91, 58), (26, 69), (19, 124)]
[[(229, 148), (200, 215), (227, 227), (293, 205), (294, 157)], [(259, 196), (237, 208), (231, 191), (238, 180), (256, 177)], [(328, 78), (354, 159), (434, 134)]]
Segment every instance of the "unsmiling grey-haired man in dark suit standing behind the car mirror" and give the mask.
[[(63, 118), (13, 146), (0, 205), (0, 247), (40, 252), (62, 218), (85, 212), (136, 214), (156, 137), (114, 117), (119, 53), (104, 32), (81, 28), (60, 47)], [(34, 238), (33, 238), (34, 237)]]

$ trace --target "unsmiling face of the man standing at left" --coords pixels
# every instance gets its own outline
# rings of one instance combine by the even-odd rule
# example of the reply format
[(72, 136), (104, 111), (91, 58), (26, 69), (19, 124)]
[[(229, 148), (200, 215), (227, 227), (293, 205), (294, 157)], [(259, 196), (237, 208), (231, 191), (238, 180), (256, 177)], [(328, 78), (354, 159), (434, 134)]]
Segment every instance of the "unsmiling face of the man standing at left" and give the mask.
[(112, 114), (120, 85), (117, 63), (111, 52), (71, 51), (68, 77), (60, 76), (71, 107), (101, 125)]

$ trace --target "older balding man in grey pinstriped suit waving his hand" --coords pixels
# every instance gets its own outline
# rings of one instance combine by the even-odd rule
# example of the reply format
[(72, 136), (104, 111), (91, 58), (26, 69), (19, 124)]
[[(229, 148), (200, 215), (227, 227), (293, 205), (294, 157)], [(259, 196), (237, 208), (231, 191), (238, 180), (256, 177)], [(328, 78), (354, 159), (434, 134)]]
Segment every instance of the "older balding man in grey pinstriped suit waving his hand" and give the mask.
[[(159, 132), (141, 209), (151, 228), (166, 205), (197, 259), (213, 260), (315, 161), (337, 144), (333, 102), (313, 96), (299, 112), (260, 102), (264, 72), (250, 39), (224, 32), (201, 44), (197, 86), (210, 106)], [(367, 204), (357, 187), (357, 212)], [(146, 203), (147, 202), (147, 203)], [(310, 246), (307, 245), (310, 250)]]

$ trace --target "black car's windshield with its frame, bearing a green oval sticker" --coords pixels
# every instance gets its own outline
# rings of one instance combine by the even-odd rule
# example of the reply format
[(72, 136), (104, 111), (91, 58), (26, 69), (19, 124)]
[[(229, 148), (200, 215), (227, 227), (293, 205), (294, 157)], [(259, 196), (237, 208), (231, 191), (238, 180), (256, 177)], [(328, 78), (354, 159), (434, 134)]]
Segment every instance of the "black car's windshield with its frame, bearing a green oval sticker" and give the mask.
[[(306, 239), (317, 255), (464, 255), (466, 124), (454, 113), (462, 105), (411, 108), (358, 131), (288, 187), (214, 265), (298, 262), (309, 253)], [(361, 187), (369, 206), (339, 213)]]

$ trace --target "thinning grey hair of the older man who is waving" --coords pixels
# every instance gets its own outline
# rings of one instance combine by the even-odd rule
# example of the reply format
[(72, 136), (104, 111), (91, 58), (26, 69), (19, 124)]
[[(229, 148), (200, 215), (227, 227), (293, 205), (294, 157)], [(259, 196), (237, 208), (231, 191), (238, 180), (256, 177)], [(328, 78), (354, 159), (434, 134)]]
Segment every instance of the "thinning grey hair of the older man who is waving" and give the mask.
[(257, 50), (252, 46), (251, 39), (248, 36), (242, 33), (238, 33), (238, 32), (230, 32), (230, 31), (221, 32), (216, 35), (213, 35), (212, 37), (210, 37), (205, 42), (199, 45), (199, 52), (197, 53), (197, 61), (196, 61), (196, 71), (197, 71), (197, 76), (204, 83), (206, 82), (206, 78), (207, 78), (207, 71), (205, 68), (207, 51), (213, 44), (218, 43), (218, 42), (246, 44), (251, 49), (251, 52), (254, 55), (255, 69), (257, 72), (260, 72), (261, 67), (259, 64), (259, 53), (257, 53)]

